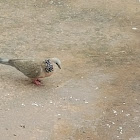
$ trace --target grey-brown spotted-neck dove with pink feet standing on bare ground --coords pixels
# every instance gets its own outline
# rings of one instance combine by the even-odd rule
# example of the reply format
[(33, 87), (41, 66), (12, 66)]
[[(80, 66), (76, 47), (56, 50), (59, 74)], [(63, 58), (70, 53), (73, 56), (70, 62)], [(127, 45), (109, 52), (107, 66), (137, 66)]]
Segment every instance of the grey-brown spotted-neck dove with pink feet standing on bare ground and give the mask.
[(30, 78), (35, 85), (41, 85), (40, 78), (49, 77), (53, 74), (53, 64), (56, 64), (61, 69), (61, 61), (58, 58), (48, 58), (45, 60), (0, 58), (0, 63), (15, 67)]

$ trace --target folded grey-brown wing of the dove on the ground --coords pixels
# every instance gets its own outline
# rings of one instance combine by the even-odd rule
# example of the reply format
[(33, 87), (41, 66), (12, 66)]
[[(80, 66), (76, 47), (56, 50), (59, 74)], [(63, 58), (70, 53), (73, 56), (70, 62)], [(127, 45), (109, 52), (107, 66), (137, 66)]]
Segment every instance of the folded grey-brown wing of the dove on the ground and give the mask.
[(40, 75), (41, 62), (26, 59), (11, 59), (9, 63), (29, 78), (37, 78)]

